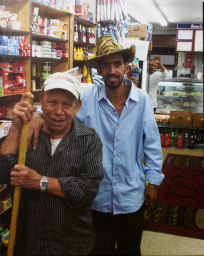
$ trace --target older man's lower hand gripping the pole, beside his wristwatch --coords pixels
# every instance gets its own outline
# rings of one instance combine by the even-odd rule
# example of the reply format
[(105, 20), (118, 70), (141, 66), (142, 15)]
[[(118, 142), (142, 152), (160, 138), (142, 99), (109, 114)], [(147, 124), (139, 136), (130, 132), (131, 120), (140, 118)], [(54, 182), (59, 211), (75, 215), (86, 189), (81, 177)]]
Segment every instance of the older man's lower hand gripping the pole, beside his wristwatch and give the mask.
[(24, 165), (15, 165), (11, 169), (10, 176), (11, 185), (40, 190), (41, 175)]

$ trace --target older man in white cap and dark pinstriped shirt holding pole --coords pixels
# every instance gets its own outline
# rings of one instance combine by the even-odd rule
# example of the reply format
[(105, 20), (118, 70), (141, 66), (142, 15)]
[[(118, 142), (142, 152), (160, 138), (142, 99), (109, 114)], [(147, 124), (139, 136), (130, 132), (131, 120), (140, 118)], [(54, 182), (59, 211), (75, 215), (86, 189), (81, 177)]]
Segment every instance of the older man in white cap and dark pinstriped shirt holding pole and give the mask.
[[(1, 146), (0, 183), (21, 186), (15, 255), (89, 255), (95, 244), (91, 204), (103, 179), (99, 135), (74, 119), (81, 85), (65, 73), (46, 79), (40, 101), (49, 130), (40, 131), (25, 166), (17, 165), (19, 136), (36, 110), (23, 93)], [(11, 173), (10, 173), (11, 169)]]

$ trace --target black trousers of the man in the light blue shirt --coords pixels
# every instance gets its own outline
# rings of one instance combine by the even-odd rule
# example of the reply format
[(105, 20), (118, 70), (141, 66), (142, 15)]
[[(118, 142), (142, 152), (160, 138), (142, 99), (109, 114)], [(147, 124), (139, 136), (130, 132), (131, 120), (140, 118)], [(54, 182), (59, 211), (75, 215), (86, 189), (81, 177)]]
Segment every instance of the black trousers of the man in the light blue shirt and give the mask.
[(90, 255), (141, 255), (144, 210), (144, 204), (130, 214), (113, 215), (93, 210), (96, 243)]

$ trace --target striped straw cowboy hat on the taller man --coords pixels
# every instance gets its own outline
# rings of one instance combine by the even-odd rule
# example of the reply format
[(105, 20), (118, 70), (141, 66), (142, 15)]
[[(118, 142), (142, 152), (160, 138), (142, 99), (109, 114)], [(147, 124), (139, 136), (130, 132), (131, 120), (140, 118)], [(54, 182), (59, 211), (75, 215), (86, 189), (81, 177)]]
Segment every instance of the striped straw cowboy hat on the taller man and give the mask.
[(124, 54), (127, 62), (132, 62), (136, 55), (136, 46), (132, 44), (129, 48), (123, 48), (121, 44), (113, 40), (111, 34), (99, 36), (97, 42), (97, 56), (87, 60), (87, 64), (94, 69), (97, 69), (97, 63), (101, 58), (109, 54)]

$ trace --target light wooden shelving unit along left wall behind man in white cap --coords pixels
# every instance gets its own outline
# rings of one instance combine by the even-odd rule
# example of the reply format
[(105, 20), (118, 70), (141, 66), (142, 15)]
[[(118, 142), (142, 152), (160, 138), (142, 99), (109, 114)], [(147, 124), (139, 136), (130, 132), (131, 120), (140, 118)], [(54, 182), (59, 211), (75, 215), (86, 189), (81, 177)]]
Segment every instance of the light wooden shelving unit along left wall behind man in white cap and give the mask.
[[(74, 16), (70, 13), (64, 13), (53, 7), (48, 7), (40, 2), (34, 0), (3, 0), (2, 5), (5, 5), (5, 11), (10, 11), (11, 13), (17, 13), (17, 20), (21, 21), (21, 30), (12, 30), (9, 28), (0, 28), (0, 35), (4, 36), (24, 36), (25, 42), (30, 43), (31, 55), (32, 55), (32, 40), (40, 41), (50, 41), (57, 43), (68, 44), (68, 59), (56, 59), (56, 58), (37, 58), (32, 56), (9, 56), (0, 55), (0, 62), (23, 62), (23, 71), (26, 72), (26, 91), (31, 91), (35, 95), (35, 100), (39, 100), (40, 89), (32, 89), (32, 65), (37, 65), (37, 77), (41, 75), (42, 62), (51, 62), (54, 72), (64, 72), (77, 65), (83, 65), (85, 62), (74, 61), (73, 60), (73, 50), (74, 46), (85, 46), (89, 48), (91, 52), (95, 54), (95, 45), (83, 44), (74, 42), (74, 20), (77, 20), (82, 26), (86, 28), (94, 28), (95, 38), (96, 38), (96, 28), (97, 25), (92, 22), (87, 22), (81, 17)], [(61, 22), (66, 22), (68, 24), (67, 38), (55, 38), (52, 36), (44, 36), (42, 34), (36, 34), (32, 32), (32, 7), (39, 8), (40, 17), (46, 17), (48, 19), (59, 19)], [(17, 95), (3, 95), (0, 96), (1, 103), (0, 108), (7, 107), (11, 108), (17, 101), (21, 98), (21, 94)]]

